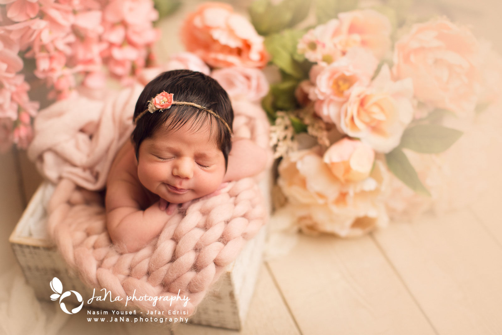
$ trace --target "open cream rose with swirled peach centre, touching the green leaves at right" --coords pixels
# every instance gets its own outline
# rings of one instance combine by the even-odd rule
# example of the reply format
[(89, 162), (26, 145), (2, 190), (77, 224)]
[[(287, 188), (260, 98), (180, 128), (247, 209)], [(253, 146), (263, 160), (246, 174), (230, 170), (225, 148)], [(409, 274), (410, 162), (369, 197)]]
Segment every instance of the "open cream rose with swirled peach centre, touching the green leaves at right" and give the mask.
[(384, 65), (368, 87), (354, 88), (335, 123), (375, 151), (388, 153), (399, 145), (413, 119), (412, 96), (411, 79), (392, 81)]

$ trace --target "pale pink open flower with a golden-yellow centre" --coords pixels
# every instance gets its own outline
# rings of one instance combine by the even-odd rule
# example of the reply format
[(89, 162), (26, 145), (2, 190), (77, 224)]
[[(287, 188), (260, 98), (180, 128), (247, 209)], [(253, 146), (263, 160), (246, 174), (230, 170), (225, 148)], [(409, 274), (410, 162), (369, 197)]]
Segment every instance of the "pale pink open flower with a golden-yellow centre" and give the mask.
[[(366, 86), (378, 66), (378, 60), (368, 51), (352, 48), (337, 61), (324, 67), (317, 75), (310, 74), (315, 80), (315, 93), (318, 99), (332, 96), (339, 101), (346, 101), (352, 87)], [(315, 65), (314, 70), (318, 68)], [(313, 72), (311, 70), (311, 72)]]

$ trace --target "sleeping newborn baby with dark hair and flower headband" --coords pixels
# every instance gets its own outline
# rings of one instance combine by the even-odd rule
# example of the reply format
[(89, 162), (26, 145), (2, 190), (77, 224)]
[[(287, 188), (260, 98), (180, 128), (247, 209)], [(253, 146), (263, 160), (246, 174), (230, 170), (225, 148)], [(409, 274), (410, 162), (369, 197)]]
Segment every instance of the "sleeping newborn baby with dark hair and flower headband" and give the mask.
[(176, 206), (263, 171), (265, 149), (232, 139), (232, 121), (227, 93), (203, 73), (168, 71), (145, 86), (132, 141), (118, 151), (106, 181), (106, 225), (120, 252), (145, 247)]

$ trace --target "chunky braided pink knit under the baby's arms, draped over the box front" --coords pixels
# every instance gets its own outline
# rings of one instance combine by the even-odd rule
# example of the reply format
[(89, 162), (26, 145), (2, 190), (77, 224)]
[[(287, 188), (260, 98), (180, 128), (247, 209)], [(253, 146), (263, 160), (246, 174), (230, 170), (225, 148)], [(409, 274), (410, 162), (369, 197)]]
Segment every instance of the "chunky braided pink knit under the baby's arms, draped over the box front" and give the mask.
[[(160, 236), (136, 253), (111, 244), (97, 192), (62, 179), (48, 205), (48, 231), (82, 281), (113, 296), (180, 296), (184, 301), (129, 302), (144, 310), (187, 310), (190, 316), (226, 265), (266, 222), (268, 212), (252, 178), (229, 183), (219, 195), (168, 218)], [(129, 305), (128, 304), (128, 305)]]

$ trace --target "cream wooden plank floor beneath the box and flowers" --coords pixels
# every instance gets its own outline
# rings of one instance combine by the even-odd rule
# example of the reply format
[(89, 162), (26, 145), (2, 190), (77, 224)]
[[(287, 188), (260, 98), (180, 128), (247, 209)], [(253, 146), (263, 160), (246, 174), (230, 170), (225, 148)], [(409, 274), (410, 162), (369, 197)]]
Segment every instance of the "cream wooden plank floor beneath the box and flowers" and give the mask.
[[(16, 262), (8, 237), (39, 181), (23, 152), (0, 159), (0, 269)], [(502, 334), (502, 182), (493, 186), (459, 211), (362, 238), (302, 235), (288, 256), (263, 264), (240, 333)], [(60, 334), (116, 330), (72, 315)], [(183, 324), (174, 333), (238, 332)]]

